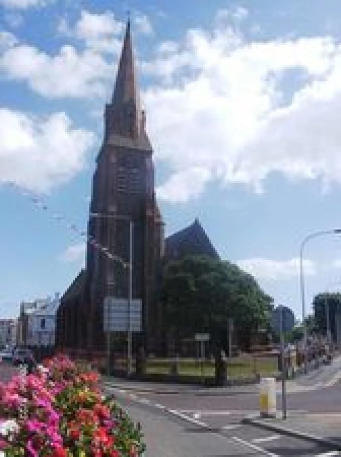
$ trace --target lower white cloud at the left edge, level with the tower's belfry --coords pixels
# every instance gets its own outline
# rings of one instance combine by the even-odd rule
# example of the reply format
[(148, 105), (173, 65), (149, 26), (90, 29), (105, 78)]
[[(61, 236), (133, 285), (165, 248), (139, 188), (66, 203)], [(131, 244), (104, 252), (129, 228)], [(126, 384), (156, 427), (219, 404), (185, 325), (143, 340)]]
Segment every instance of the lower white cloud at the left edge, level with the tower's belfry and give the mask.
[(94, 135), (65, 113), (46, 118), (0, 109), (0, 182), (45, 192), (79, 172)]

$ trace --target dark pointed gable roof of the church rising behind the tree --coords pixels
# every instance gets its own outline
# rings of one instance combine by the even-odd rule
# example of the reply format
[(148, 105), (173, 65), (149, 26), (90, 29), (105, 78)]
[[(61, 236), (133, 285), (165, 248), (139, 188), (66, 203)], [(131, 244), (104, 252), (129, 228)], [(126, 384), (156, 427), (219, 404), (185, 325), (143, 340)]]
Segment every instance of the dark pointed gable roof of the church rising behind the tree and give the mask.
[(164, 263), (180, 260), (188, 255), (219, 259), (219, 254), (198, 219), (189, 227), (173, 233), (165, 240)]

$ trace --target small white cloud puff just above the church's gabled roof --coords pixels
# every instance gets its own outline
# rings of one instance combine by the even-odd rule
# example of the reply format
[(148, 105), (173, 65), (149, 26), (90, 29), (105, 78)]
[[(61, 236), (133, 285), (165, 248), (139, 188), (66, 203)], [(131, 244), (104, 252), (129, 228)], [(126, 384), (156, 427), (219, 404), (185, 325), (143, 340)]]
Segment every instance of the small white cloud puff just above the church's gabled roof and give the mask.
[[(200, 195), (205, 184), (210, 180), (210, 173), (205, 168), (193, 167), (173, 174), (167, 182), (156, 190), (160, 200), (172, 203), (187, 202)], [(190, 184), (190, 185), (189, 185)]]

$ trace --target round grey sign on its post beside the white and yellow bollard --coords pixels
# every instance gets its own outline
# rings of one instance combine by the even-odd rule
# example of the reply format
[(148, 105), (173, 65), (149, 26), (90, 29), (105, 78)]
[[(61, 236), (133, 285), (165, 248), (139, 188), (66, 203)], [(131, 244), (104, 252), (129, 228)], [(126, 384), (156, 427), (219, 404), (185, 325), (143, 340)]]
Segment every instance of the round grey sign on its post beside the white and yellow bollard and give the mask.
[(286, 419), (286, 359), (285, 359), (285, 338), (284, 332), (290, 332), (295, 325), (295, 316), (293, 311), (279, 305), (273, 310), (272, 326), (273, 330), (279, 333), (280, 340), (280, 360), (282, 368), (282, 416)]

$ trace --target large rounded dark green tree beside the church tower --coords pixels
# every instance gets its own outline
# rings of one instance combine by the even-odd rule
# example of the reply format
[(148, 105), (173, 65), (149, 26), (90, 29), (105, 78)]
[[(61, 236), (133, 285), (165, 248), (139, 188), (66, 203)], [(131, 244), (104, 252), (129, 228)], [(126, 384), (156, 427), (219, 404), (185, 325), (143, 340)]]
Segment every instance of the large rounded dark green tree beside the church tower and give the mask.
[(233, 318), (238, 344), (248, 348), (251, 336), (268, 327), (272, 303), (251, 275), (228, 261), (190, 256), (165, 269), (164, 331), (174, 338), (207, 332), (221, 345)]

